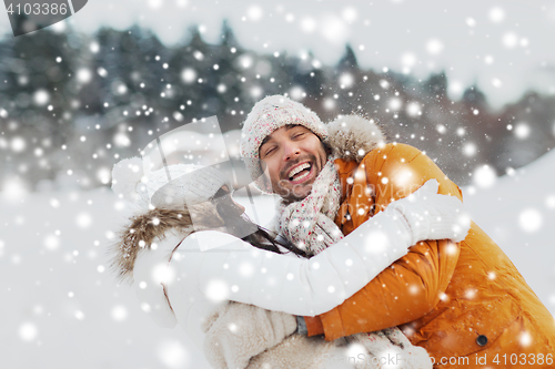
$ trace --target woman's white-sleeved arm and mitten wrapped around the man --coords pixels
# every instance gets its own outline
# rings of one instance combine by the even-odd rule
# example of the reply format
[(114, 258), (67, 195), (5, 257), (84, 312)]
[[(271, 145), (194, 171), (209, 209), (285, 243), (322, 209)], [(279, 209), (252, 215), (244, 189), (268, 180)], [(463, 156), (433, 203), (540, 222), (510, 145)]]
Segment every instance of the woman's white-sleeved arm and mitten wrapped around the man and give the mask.
[[(183, 249), (186, 253), (172, 259), (171, 267), (178, 277), (172, 283), (191, 283), (191, 278), (179, 276), (196, 269), (199, 274), (194, 280), (211, 299), (215, 290), (221, 299), (293, 315), (314, 316), (329, 311), (406, 255), (415, 242), (457, 235), (451, 225), (456, 222), (453, 214), (461, 211), (462, 203), (436, 192), (437, 184), (432, 184), (422, 188), (421, 196), (415, 193), (415, 201), (401, 199), (395, 206), (391, 204), (389, 212), (376, 214), (311, 259), (258, 249), (215, 230), (198, 232), (185, 238), (178, 249), (180, 254)], [(441, 196), (441, 202), (431, 201), (436, 196)], [(428, 211), (440, 212), (433, 214), (441, 214), (442, 221), (414, 217), (415, 212)], [(420, 239), (416, 240), (411, 232), (416, 227), (414, 222), (420, 229), (426, 229), (417, 233)], [(424, 222), (433, 225), (427, 226)], [(466, 230), (463, 229), (464, 235)], [(210, 245), (210, 250), (200, 252), (199, 245)]]

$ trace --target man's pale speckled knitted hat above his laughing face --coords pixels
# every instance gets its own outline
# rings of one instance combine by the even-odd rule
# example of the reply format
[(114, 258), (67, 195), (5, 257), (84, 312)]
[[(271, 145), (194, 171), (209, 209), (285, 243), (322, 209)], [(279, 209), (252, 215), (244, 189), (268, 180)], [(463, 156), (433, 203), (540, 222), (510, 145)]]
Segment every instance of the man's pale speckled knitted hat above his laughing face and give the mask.
[(264, 180), (259, 150), (266, 136), (287, 124), (305, 126), (320, 140), (327, 140), (327, 129), (320, 117), (296, 101), (282, 95), (272, 95), (254, 104), (241, 132), (241, 156), (254, 184), (265, 193), (272, 193), (272, 185)]

